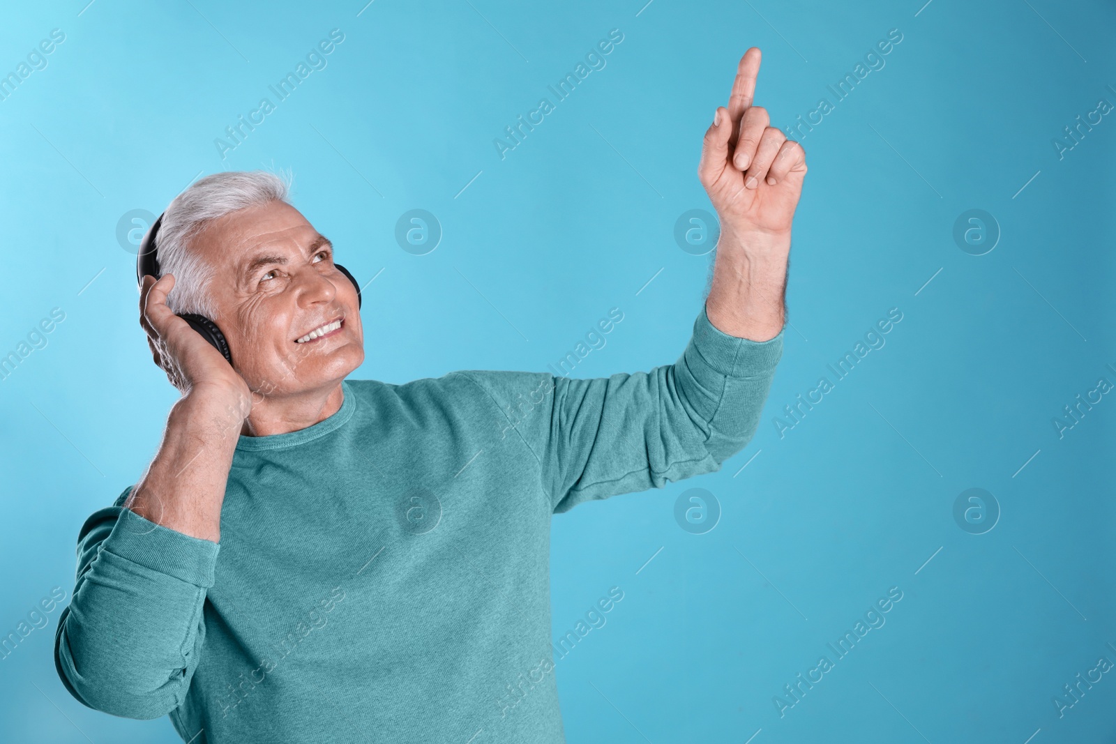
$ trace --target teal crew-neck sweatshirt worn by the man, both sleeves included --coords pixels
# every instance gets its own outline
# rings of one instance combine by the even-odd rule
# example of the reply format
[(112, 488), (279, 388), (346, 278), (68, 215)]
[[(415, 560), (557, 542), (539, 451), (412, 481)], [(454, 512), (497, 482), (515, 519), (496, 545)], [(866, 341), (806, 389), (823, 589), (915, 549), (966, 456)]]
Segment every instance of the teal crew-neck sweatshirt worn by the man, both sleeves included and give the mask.
[(704, 308), (693, 331), (650, 373), (346, 379), (328, 418), (240, 437), (219, 543), (128, 486), (78, 534), (62, 684), (191, 744), (565, 742), (551, 515), (720, 470), (782, 356)]

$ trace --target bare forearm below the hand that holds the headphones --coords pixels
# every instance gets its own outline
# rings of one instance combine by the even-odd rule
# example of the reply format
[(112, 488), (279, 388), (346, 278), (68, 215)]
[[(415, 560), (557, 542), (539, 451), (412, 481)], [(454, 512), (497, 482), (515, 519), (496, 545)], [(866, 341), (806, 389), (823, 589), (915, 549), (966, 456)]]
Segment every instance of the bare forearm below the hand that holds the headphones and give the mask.
[(219, 542), (221, 504), (243, 417), (224, 398), (187, 393), (171, 408), (158, 453), (124, 502), (144, 519)]

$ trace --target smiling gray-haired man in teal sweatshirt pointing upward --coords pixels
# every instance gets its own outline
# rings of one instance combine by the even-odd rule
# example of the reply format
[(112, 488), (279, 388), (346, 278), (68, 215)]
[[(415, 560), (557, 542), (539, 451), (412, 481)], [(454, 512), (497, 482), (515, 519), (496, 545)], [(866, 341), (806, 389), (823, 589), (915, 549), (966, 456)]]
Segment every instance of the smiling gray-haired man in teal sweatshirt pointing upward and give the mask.
[[(705, 134), (705, 307), (650, 373), (348, 380), (357, 290), (282, 181), (180, 194), (140, 307), (182, 397), (143, 477), (78, 537), (55, 648), (70, 693), (170, 713), (199, 744), (564, 742), (551, 515), (719, 470), (782, 354), (806, 163), (751, 105), (759, 65), (749, 49)], [(234, 366), (176, 312), (212, 319)]]

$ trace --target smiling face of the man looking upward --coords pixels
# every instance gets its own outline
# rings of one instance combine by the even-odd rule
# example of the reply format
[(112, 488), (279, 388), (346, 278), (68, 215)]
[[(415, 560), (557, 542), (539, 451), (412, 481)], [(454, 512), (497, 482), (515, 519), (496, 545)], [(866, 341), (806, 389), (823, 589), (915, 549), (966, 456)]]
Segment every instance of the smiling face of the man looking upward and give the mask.
[[(215, 269), (212, 320), (252, 390), (327, 388), (364, 361), (356, 288), (334, 265), (329, 242), (294, 206), (269, 202), (228, 214), (191, 248)], [(306, 339), (338, 320), (340, 328)]]

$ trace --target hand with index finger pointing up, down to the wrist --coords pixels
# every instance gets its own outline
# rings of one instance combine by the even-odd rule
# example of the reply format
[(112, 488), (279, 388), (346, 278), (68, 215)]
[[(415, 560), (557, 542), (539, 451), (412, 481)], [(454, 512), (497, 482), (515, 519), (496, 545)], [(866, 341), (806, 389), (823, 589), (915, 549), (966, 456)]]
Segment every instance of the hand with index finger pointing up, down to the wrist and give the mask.
[(752, 106), (760, 50), (740, 58), (729, 107), (716, 109), (705, 133), (698, 175), (721, 221), (722, 235), (749, 245), (790, 249), (790, 226), (806, 176), (806, 153), (769, 126), (767, 109)]

